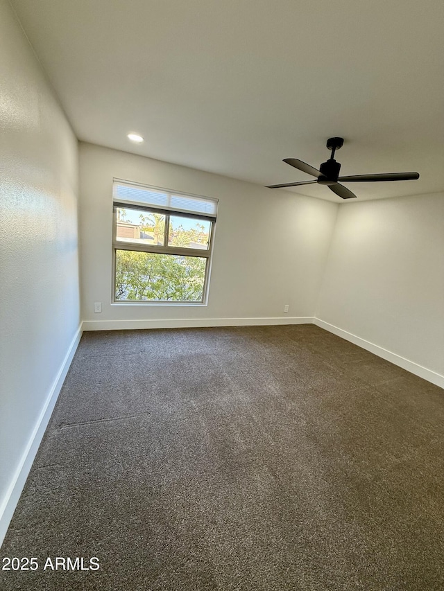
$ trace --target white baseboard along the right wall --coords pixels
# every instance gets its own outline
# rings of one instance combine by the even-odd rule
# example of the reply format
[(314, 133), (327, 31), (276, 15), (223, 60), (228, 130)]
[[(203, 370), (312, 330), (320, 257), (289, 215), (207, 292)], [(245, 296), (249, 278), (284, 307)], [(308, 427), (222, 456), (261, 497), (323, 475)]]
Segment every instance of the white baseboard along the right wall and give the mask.
[(316, 326), (319, 326), (320, 328), (325, 328), (325, 330), (328, 330), (330, 333), (342, 337), (343, 339), (360, 346), (362, 349), (370, 351), (370, 353), (375, 353), (378, 357), (382, 357), (386, 361), (398, 365), (399, 367), (402, 367), (402, 369), (406, 369), (407, 371), (410, 371), (410, 373), (414, 373), (416, 376), (424, 378), (436, 386), (444, 388), (444, 376), (441, 376), (441, 373), (436, 373), (436, 371), (432, 371), (432, 369), (422, 367), (422, 365), (419, 365), (418, 363), (405, 359), (404, 357), (401, 357), (401, 355), (397, 355), (391, 351), (387, 351), (387, 349), (384, 349), (379, 345), (375, 345), (374, 343), (366, 341), (366, 339), (361, 339), (361, 337), (352, 335), (352, 333), (348, 333), (347, 330), (343, 330), (342, 328), (329, 324), (319, 318), (315, 317), (313, 319), (313, 324), (316, 324)]

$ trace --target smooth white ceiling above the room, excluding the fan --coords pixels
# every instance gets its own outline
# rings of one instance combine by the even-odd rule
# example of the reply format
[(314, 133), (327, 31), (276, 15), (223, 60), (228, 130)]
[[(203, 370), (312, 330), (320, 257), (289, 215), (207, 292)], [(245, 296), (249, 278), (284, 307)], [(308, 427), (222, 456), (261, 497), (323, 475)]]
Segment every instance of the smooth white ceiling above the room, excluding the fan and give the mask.
[(343, 136), (342, 175), (420, 173), (359, 200), (444, 190), (442, 0), (11, 1), (80, 140), (266, 185)]

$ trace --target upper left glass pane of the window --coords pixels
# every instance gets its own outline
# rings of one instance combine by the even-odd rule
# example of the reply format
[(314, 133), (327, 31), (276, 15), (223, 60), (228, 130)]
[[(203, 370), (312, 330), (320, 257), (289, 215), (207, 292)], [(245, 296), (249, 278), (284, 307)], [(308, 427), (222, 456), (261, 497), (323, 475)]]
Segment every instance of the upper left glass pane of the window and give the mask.
[(117, 207), (116, 239), (151, 246), (164, 245), (165, 216), (162, 213)]

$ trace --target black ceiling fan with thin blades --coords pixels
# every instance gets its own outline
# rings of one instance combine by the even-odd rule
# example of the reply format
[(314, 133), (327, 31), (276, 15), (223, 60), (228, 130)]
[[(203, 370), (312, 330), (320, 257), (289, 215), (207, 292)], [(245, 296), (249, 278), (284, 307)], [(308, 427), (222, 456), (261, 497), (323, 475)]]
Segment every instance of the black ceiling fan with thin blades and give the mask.
[(334, 159), (334, 152), (339, 150), (344, 143), (342, 137), (330, 137), (327, 139), (327, 148), (332, 150), (330, 159), (323, 162), (319, 167), (313, 168), (309, 164), (305, 164), (302, 160), (296, 158), (285, 158), (284, 162), (287, 162), (290, 166), (302, 170), (302, 173), (307, 173), (312, 177), (316, 177), (315, 181), (301, 181), (298, 183), (284, 183), (280, 185), (268, 185), (268, 188), (281, 188), (281, 187), (296, 187), (299, 185), (308, 185), (311, 183), (319, 183), (321, 185), (327, 185), (330, 191), (339, 195), (343, 199), (350, 199), (356, 197), (355, 193), (352, 193), (345, 186), (341, 185), (338, 181), (345, 183), (356, 183), (356, 182), (375, 182), (375, 181), (414, 181), (419, 179), (418, 173), (386, 173), (382, 175), (353, 175), (351, 177), (340, 177), (339, 170), (341, 164), (336, 162)]

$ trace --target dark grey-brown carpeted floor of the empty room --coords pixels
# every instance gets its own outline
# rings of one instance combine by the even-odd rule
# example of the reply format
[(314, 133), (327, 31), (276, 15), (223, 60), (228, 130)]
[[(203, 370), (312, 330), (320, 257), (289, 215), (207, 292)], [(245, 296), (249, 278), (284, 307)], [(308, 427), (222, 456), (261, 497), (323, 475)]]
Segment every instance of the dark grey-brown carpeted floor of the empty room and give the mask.
[(443, 435), (443, 389), (313, 325), (85, 333), (0, 589), (443, 590)]

